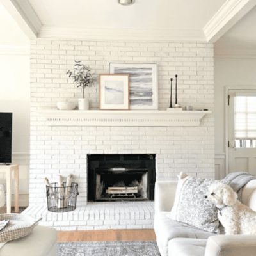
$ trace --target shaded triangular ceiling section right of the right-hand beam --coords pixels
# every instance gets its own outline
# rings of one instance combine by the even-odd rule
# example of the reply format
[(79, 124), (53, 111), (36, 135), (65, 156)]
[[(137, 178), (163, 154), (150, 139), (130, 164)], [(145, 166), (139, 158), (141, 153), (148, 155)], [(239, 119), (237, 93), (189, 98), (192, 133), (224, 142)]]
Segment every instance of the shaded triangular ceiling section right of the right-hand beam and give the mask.
[(232, 51), (256, 51), (256, 7), (252, 8), (215, 43), (219, 54)]

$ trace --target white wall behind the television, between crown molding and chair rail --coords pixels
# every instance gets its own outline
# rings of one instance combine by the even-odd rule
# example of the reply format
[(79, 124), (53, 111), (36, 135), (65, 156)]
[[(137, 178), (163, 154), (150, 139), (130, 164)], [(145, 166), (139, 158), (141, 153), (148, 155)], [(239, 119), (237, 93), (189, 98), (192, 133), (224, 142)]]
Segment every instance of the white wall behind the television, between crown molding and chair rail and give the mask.
[(13, 153), (29, 153), (29, 55), (1, 55), (0, 109), (13, 112)]

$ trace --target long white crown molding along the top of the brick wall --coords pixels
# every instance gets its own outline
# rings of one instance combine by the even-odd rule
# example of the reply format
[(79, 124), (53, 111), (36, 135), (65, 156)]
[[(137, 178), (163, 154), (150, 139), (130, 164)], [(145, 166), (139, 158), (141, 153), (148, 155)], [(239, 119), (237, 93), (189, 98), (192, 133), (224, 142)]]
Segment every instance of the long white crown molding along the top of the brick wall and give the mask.
[(42, 26), (39, 38), (206, 42), (201, 29), (107, 29)]

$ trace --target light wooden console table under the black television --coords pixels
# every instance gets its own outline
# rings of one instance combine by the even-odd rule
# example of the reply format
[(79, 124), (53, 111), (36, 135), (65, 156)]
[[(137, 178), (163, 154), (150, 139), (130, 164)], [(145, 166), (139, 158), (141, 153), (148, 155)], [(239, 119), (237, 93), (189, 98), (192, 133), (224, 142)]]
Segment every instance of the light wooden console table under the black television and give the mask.
[(0, 172), (6, 176), (6, 212), (11, 213), (12, 203), (12, 172), (14, 172), (14, 207), (15, 212), (19, 212), (19, 164), (0, 165)]

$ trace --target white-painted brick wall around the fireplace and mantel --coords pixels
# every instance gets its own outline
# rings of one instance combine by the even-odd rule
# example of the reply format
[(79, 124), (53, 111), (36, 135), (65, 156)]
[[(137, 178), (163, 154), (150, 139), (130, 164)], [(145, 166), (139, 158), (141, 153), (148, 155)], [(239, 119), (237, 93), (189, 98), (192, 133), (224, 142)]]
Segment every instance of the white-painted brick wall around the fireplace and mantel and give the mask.
[[(45, 204), (43, 178), (74, 173), (79, 182), (77, 204), (86, 204), (86, 154), (157, 154), (157, 180), (174, 179), (180, 171), (214, 177), (214, 119), (200, 127), (49, 127), (37, 111), (82, 96), (66, 72), (74, 60), (108, 73), (109, 62), (157, 63), (159, 109), (169, 106), (170, 77), (179, 75), (179, 103), (213, 110), (212, 44), (183, 42), (31, 42), (31, 172), (30, 204)], [(98, 84), (86, 89), (97, 109)], [(144, 224), (144, 223), (141, 223)], [(110, 224), (109, 224), (110, 225)]]

